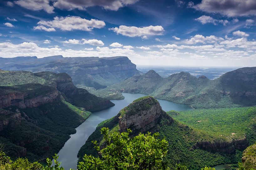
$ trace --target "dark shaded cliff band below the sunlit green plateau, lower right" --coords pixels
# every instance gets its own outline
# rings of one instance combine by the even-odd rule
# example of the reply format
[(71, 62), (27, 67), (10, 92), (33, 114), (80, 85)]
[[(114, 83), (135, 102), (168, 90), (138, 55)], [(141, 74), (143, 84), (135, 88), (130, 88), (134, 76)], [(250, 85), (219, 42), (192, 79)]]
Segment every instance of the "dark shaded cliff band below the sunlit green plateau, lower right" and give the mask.
[(203, 149), (209, 152), (224, 152), (234, 153), (236, 149), (243, 151), (248, 147), (248, 140), (246, 137), (241, 139), (233, 139), (231, 141), (202, 141), (197, 142), (194, 148)]

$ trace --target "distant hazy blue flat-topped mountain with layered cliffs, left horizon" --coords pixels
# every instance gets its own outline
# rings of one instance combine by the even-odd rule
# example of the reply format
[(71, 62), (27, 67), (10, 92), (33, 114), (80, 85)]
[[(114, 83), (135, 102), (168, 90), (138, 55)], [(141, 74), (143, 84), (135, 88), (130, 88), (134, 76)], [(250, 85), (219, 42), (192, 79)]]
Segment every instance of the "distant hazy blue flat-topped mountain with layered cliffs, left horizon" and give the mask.
[(133, 75), (140, 75), (128, 57), (63, 57), (62, 55), (38, 59), (37, 57), (1, 58), (2, 70), (51, 71), (67, 73), (77, 87), (105, 88)]

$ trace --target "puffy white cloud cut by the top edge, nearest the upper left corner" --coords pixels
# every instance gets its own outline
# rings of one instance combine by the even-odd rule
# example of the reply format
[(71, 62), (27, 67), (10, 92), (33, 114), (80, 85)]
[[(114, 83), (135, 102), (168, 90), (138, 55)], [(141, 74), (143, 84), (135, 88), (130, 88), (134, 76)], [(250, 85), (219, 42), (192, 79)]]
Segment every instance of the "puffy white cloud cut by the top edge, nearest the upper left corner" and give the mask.
[(44, 10), (47, 13), (54, 13), (54, 7), (49, 5), (49, 0), (18, 0), (14, 3), (32, 11)]

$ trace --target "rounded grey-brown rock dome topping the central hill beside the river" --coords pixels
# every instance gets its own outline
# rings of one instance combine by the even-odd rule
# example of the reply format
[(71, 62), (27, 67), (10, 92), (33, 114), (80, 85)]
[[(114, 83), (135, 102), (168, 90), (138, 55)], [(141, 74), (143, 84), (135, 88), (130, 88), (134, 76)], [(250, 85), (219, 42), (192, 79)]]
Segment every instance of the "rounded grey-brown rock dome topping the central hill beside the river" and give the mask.
[(160, 117), (166, 115), (154, 97), (139, 98), (120, 111), (119, 131), (129, 128), (133, 131), (147, 132), (157, 125)]

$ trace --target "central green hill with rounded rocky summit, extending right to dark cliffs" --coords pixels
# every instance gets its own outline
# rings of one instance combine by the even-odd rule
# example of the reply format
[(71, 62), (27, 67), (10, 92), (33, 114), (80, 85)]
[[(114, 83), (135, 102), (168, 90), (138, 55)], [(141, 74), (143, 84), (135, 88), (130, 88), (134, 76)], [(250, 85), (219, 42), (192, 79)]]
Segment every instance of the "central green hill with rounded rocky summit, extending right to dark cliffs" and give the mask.
[(134, 100), (123, 108), (117, 116), (100, 123), (96, 130), (81, 147), (78, 157), (81, 161), (83, 155), (97, 156), (91, 141), (97, 141), (104, 147), (100, 129), (108, 127), (110, 133), (122, 132), (131, 129), (132, 136), (138, 133), (159, 132), (169, 142), (166, 163), (173, 168), (176, 163), (185, 163), (189, 169), (217, 164), (241, 161), (241, 151), (248, 146), (246, 138), (227, 139), (216, 137), (203, 131), (193, 129), (180, 123), (162, 110), (154, 97), (146, 96)]

